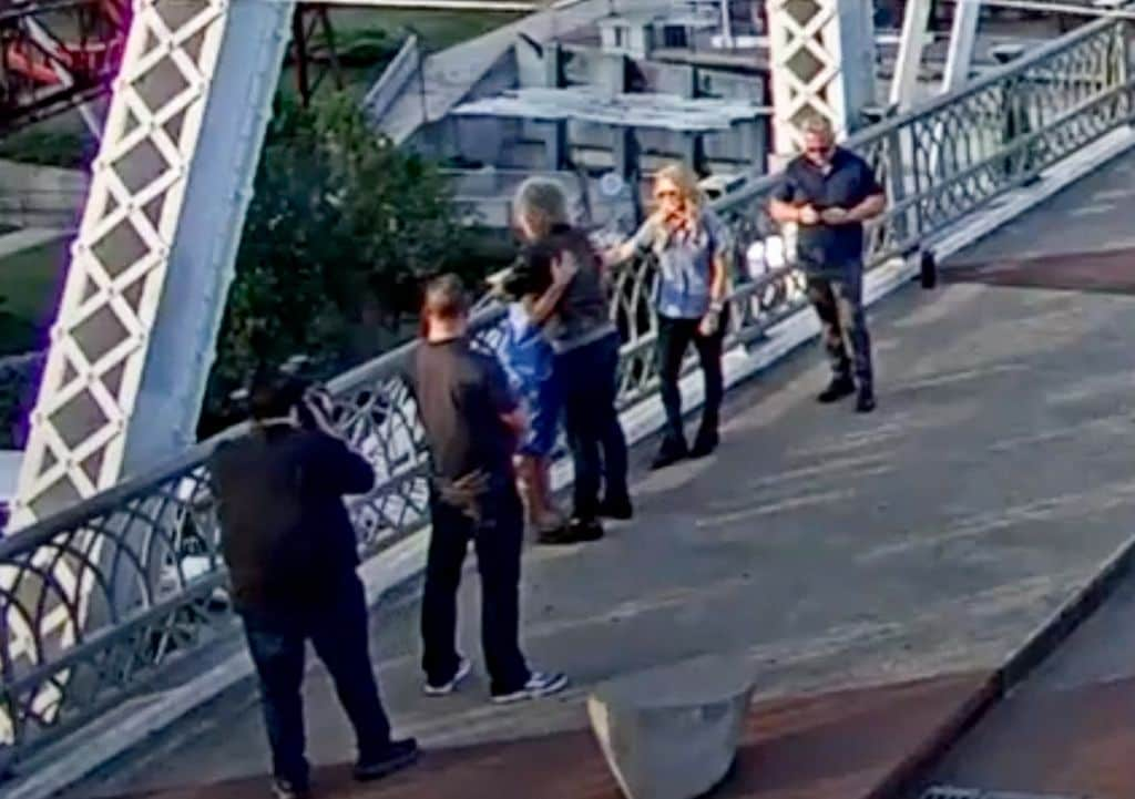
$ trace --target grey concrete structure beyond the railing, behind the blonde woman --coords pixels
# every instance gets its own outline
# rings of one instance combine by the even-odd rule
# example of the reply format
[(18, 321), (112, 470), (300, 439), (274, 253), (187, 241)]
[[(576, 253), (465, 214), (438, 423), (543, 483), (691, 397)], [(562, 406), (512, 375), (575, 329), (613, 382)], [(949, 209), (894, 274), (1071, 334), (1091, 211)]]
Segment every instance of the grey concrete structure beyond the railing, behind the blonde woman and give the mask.
[[(465, 176), (481, 186), (496, 180), (479, 175), (562, 175), (586, 218), (599, 225), (619, 225), (628, 213), (633, 224), (638, 185), (670, 161), (725, 179), (760, 173), (768, 136), (759, 65), (684, 58), (717, 35), (715, 9), (621, 5), (621, 14), (565, 25), (554, 36), (547, 31), (538, 36), (535, 25), (531, 34), (519, 31), (443, 116), (405, 143), (453, 162), (460, 183)], [(381, 83), (411, 92), (417, 81), (400, 74)], [(398, 108), (396, 101), (384, 106), (390, 113)], [(604, 177), (606, 185), (617, 178), (628, 191), (605, 194), (599, 190)], [(515, 182), (503, 183), (508, 185), (490, 195), (459, 190), (459, 200), (482, 224), (504, 226), (507, 191)]]

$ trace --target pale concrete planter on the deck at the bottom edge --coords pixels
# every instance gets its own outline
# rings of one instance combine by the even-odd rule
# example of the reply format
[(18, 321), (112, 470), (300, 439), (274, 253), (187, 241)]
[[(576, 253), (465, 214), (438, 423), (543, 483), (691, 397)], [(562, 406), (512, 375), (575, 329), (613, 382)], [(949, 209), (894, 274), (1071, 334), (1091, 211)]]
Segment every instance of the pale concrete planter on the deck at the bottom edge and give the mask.
[(753, 690), (748, 661), (701, 657), (605, 683), (588, 714), (628, 799), (693, 799), (729, 773)]

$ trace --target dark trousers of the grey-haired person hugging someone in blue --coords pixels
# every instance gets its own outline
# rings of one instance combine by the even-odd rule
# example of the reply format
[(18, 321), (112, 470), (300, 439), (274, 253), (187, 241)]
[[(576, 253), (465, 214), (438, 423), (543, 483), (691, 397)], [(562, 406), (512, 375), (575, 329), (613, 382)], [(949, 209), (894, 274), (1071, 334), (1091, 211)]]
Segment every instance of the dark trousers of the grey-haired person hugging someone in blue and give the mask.
[(574, 515), (599, 515), (599, 487), (612, 499), (628, 496), (627, 437), (619, 421), (617, 335), (556, 356), (564, 387), (564, 431), (575, 466)]

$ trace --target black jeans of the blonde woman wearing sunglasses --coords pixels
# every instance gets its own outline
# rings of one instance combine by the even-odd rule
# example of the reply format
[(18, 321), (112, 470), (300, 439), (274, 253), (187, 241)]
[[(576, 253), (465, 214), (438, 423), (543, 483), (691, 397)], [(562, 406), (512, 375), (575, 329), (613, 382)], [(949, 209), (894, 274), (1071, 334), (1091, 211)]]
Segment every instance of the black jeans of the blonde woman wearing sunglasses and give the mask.
[(703, 336), (698, 330), (700, 319), (671, 319), (658, 317), (658, 378), (662, 381), (662, 404), (666, 409), (666, 429), (662, 447), (675, 454), (687, 449), (682, 426), (682, 393), (678, 387), (682, 373), (686, 351), (692, 344), (698, 351), (701, 373), (705, 377), (706, 397), (701, 411), (701, 430), (698, 434), (717, 432), (721, 421), (721, 401), (725, 393), (725, 381), (721, 371), (722, 342), (729, 320), (722, 314), (717, 331)]

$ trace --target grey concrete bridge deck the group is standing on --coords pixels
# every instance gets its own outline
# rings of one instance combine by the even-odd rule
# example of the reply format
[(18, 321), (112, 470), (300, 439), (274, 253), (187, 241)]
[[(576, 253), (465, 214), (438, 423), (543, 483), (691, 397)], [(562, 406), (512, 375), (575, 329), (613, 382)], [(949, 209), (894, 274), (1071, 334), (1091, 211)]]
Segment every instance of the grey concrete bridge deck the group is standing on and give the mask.
[[(731, 393), (717, 456), (642, 473), (633, 523), (594, 545), (531, 549), (524, 639), (536, 664), (571, 675), (564, 697), (497, 708), (471, 680), (459, 696), (423, 699), (417, 589), (386, 602), (373, 654), (397, 729), (434, 750), (497, 746), (464, 762), (434, 755), (401, 782), (327, 796), (614, 796), (580, 754), (588, 689), (706, 651), (750, 657), (764, 723), (781, 718), (785, 735), (814, 746), (790, 729), (801, 713), (792, 703), (846, 692), (813, 730), (829, 731), (827, 755), (821, 747), (794, 776), (766, 768), (760, 779), (775, 785), (754, 777), (751, 790), (725, 796), (865, 796), (840, 780), (868, 766), (831, 758), (833, 740), (864, 737), (846, 713), (871, 704), (865, 687), (930, 679), (922, 684), (936, 686), (941, 701), (957, 680), (980, 681), (1130, 536), (1133, 196), (1128, 154), (964, 252), (938, 291), (910, 286), (881, 302), (874, 415), (813, 402), (826, 375), (808, 348)], [(1040, 255), (1033, 269), (1007, 267)], [(1062, 280), (1069, 270), (1075, 279)], [(470, 578), (462, 640), (478, 662)], [(313, 760), (347, 762), (346, 722), (316, 666), (308, 697)], [(901, 701), (883, 704), (905, 713)], [(260, 724), (254, 688), (242, 684), (67, 796), (193, 787), (176, 796), (260, 796)], [(547, 745), (569, 739), (582, 749)], [(506, 740), (527, 766), (507, 766)], [(533, 773), (550, 780), (547, 790), (523, 782)], [(463, 792), (442, 790), (455, 780)]]

